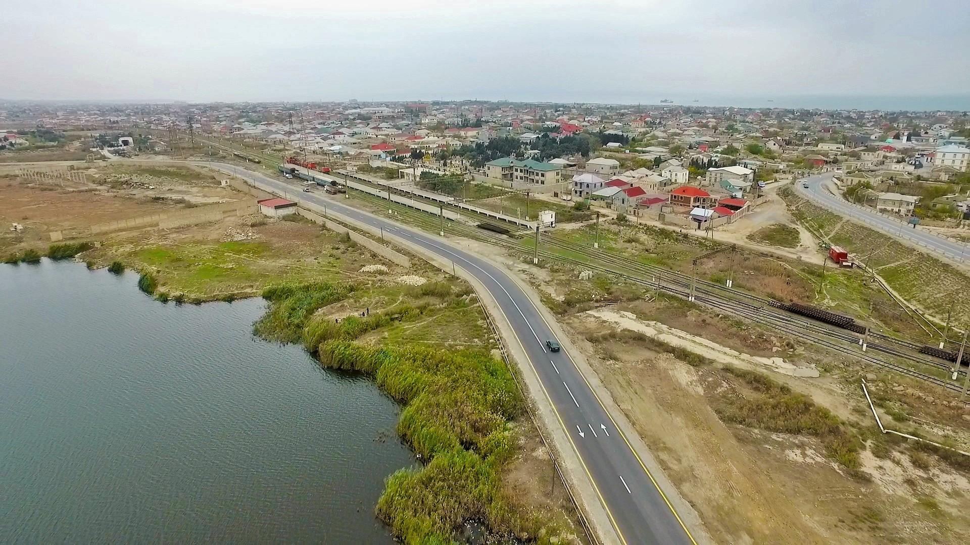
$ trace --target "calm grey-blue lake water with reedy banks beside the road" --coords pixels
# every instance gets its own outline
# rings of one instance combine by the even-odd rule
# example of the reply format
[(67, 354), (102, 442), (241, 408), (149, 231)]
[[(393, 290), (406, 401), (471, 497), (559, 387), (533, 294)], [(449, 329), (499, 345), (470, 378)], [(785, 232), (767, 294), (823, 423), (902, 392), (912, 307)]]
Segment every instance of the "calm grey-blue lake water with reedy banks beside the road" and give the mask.
[(398, 406), (261, 300), (162, 305), (137, 275), (0, 265), (0, 542), (391, 543)]

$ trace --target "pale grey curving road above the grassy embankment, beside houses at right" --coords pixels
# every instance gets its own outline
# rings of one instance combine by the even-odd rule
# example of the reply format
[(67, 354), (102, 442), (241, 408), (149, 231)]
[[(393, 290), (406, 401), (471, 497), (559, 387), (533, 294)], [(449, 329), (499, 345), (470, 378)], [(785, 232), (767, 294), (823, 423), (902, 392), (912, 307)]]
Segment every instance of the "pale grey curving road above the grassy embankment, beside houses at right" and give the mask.
[[(947, 239), (946, 237), (934, 235), (933, 233), (920, 229), (919, 226), (914, 229), (912, 225), (904, 221), (887, 217), (872, 208), (853, 205), (841, 197), (832, 195), (824, 188), (824, 184), (830, 177), (831, 175), (826, 174), (800, 179), (795, 183), (794, 190), (823, 208), (827, 208), (841, 216), (855, 219), (890, 237), (909, 240), (911, 243), (915, 242), (932, 252), (961, 263), (966, 257), (970, 257), (970, 253), (964, 255), (966, 251), (964, 244)], [(802, 186), (803, 181), (808, 182), (807, 189)]]

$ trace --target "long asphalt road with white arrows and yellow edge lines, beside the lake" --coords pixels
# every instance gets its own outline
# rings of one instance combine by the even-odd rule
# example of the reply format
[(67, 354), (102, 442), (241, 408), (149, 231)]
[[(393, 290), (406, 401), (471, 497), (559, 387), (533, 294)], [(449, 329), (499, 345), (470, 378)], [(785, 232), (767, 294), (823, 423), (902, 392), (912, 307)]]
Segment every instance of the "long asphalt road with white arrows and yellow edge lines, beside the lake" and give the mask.
[(280, 178), (252, 173), (232, 165), (206, 165), (246, 178), (258, 187), (279, 195), (285, 191), (291, 200), (305, 200), (320, 207), (326, 205), (328, 209), (355, 220), (383, 227), (472, 273), (491, 292), (511, 324), (621, 541), (663, 545), (694, 543), (680, 517), (655, 484), (653, 476), (627, 438), (617, 430), (565, 348), (559, 352), (551, 352), (547, 348), (546, 340), (555, 338), (551, 328), (532, 300), (505, 272), (452, 243), (343, 206), (339, 204), (339, 198), (323, 192), (304, 193)]

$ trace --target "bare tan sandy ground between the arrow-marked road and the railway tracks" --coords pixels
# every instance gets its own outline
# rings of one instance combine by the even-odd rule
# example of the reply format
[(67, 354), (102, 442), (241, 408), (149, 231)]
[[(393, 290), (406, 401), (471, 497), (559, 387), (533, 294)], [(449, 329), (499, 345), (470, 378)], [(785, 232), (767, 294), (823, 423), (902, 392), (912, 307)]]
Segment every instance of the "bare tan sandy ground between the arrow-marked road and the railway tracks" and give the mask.
[[(582, 339), (608, 327), (601, 316), (615, 314), (581, 313), (565, 322)], [(620, 316), (624, 326), (655, 327)], [(662, 332), (664, 340), (683, 340)], [(861, 469), (871, 480), (853, 478), (812, 437), (722, 422), (716, 400), (727, 383), (710, 368), (633, 344), (611, 346), (608, 356), (592, 342), (577, 345), (718, 542), (961, 543), (970, 535), (964, 474), (939, 465), (913, 472), (903, 454), (879, 460), (863, 451)], [(802, 385), (818, 403), (841, 403), (842, 417), (855, 413), (856, 403), (824, 380), (771, 376)]]

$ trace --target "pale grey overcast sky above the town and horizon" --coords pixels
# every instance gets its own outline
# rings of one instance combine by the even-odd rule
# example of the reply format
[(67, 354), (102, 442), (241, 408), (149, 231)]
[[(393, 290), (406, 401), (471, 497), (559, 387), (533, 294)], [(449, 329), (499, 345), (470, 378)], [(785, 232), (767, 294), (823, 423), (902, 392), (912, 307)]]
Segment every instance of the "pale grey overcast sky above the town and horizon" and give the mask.
[(970, 94), (968, 0), (46, 0), (0, 12), (7, 99)]

